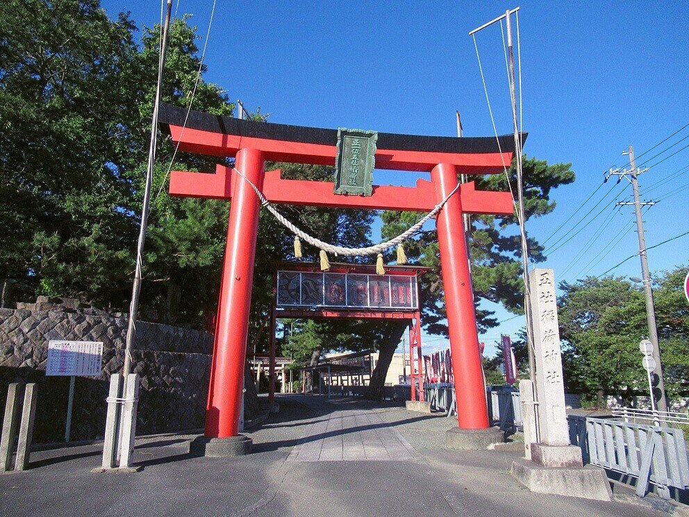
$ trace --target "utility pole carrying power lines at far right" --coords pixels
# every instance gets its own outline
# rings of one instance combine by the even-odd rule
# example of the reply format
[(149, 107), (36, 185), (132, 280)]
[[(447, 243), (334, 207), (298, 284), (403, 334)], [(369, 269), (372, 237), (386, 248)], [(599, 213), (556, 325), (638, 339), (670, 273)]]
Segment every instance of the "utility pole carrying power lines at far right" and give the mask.
[[(634, 211), (636, 212), (636, 231), (639, 237), (639, 256), (641, 257), (641, 272), (644, 281), (644, 293), (646, 297), (646, 319), (648, 322), (649, 340), (653, 344), (653, 359), (656, 360), (654, 374), (658, 376), (658, 409), (667, 411), (665, 399), (665, 382), (663, 381), (663, 365), (661, 363), (661, 349), (658, 347), (658, 327), (656, 327), (656, 309), (653, 303), (653, 288), (651, 287), (651, 274), (648, 270), (648, 256), (646, 254), (646, 238), (644, 236), (644, 222), (641, 218), (641, 202), (639, 196), (638, 170), (634, 158), (634, 148), (629, 146), (629, 166), (631, 167), (631, 186), (634, 191)], [(650, 374), (649, 374), (650, 375)], [(651, 401), (654, 394), (651, 389)]]

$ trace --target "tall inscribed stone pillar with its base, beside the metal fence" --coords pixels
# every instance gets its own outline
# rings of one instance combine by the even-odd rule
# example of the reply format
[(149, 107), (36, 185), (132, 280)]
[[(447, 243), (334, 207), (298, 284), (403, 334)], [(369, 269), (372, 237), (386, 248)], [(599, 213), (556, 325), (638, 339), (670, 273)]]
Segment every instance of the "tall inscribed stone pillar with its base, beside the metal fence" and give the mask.
[[(536, 359), (538, 442), (529, 444), (531, 461), (520, 459), (512, 464), (512, 475), (533, 492), (610, 501), (612, 494), (604, 470), (584, 467), (581, 448), (570, 445), (553, 270), (531, 270), (529, 280)], [(528, 388), (524, 389), (528, 391)], [(524, 428), (526, 434), (526, 423)]]

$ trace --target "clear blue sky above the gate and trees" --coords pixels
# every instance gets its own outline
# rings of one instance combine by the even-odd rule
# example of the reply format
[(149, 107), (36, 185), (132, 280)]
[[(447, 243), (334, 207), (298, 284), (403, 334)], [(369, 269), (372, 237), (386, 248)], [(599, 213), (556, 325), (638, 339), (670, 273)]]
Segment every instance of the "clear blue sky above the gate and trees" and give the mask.
[[(212, 5), (211, 0), (174, 3), (178, 15), (193, 14), (202, 37)], [(454, 113), (460, 110), (465, 136), (491, 136), (467, 33), (515, 5), (219, 1), (206, 80), (221, 85), (232, 99), (242, 99), (249, 110), (260, 106), (271, 122), (454, 136)], [(155, 1), (107, 0), (103, 6), (113, 17), (131, 10), (139, 26), (160, 17)], [(554, 268), (558, 281), (575, 281), (601, 274), (638, 252), (633, 208), (613, 208), (618, 191), (622, 197), (631, 195), (628, 183), (608, 182), (577, 209), (600, 185), (605, 170), (628, 164), (621, 154), (627, 146), (640, 155), (689, 123), (686, 6), (648, 1), (524, 1), (520, 6), (524, 130), (530, 133), (524, 152), (549, 163), (572, 162), (576, 172), (574, 184), (553, 193), (558, 204), (554, 213), (529, 221), (527, 231), (540, 242), (550, 238), (547, 245), (553, 251), (546, 250), (547, 262), (540, 267)], [(498, 132), (509, 133), (499, 24), (479, 33), (477, 40)], [(642, 156), (638, 165), (688, 135), (689, 128)], [(688, 144), (689, 138), (646, 165)], [(689, 230), (689, 190), (682, 190), (689, 186), (689, 169), (679, 172), (686, 165), (689, 148), (640, 179), (642, 197), (662, 199), (645, 213), (649, 246)], [(416, 177), (379, 171), (375, 182), (410, 184)], [(584, 222), (604, 206), (610, 208), (570, 231), (569, 236), (583, 227), (560, 249), (552, 246), (611, 189)], [(686, 236), (650, 250), (651, 273), (688, 263), (688, 245)], [(639, 277), (638, 258), (613, 273)], [(497, 315), (510, 317), (501, 309)], [(488, 354), (499, 334), (514, 336), (522, 326), (522, 318), (515, 318), (481, 336)], [(427, 344), (446, 345), (437, 336)]]

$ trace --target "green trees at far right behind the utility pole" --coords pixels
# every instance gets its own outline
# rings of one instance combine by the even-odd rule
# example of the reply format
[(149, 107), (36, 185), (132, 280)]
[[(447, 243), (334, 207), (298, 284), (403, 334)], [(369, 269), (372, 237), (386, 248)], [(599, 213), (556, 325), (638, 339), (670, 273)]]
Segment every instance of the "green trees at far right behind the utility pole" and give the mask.
[[(688, 268), (654, 282), (654, 300), (665, 389), (686, 391), (689, 378), (689, 304), (683, 295)], [(642, 288), (621, 277), (588, 277), (563, 283), (558, 299), (567, 388), (590, 397), (644, 393), (646, 372), (639, 342), (648, 336)]]

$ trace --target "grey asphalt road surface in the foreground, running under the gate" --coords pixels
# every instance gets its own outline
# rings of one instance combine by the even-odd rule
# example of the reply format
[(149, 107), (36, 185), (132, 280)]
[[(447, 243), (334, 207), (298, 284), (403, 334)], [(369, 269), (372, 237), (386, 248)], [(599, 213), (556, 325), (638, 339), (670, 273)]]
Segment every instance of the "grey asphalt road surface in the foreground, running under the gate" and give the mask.
[[(192, 436), (144, 438), (135, 451), (141, 472), (94, 474), (97, 445), (35, 452), (31, 470), (0, 475), (0, 515), (667, 515), (628, 502), (533, 494), (509, 475), (519, 453), (443, 449), (443, 433), (456, 425), (452, 418), (351, 400), (279, 400), (281, 412), (247, 432), (254, 453), (246, 457), (192, 457)], [(328, 459), (333, 443), (344, 451), (354, 435), (364, 450), (368, 441), (372, 454), (385, 459), (356, 459), (346, 451)], [(300, 448), (314, 450), (317, 441), (330, 452), (299, 461)]]

